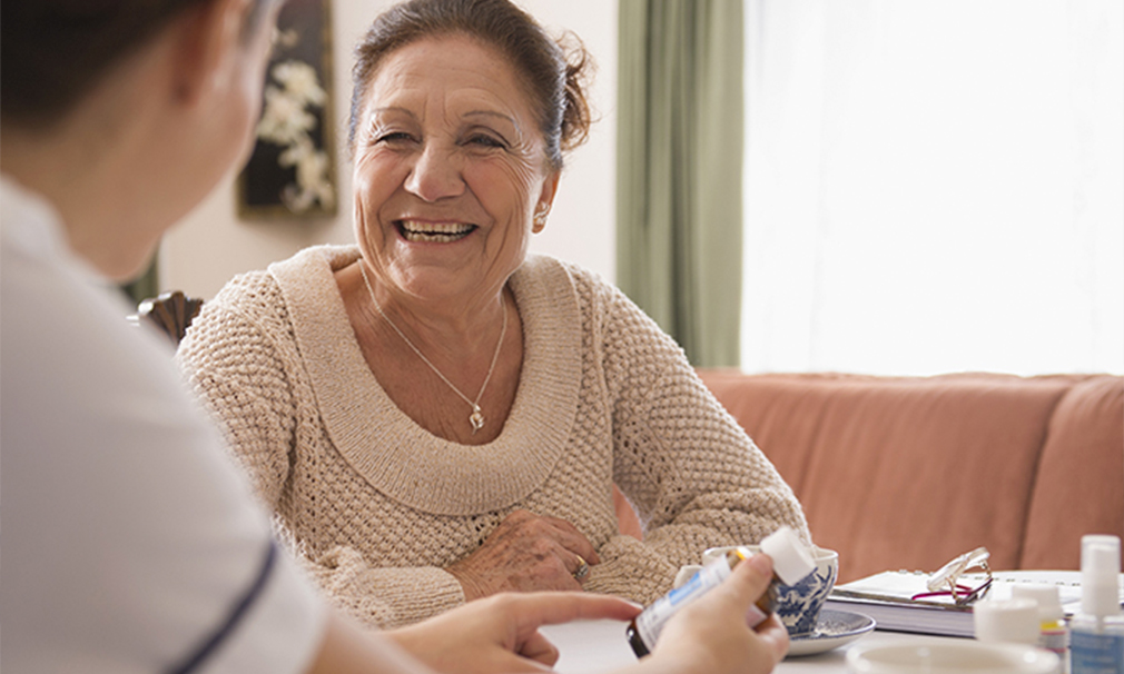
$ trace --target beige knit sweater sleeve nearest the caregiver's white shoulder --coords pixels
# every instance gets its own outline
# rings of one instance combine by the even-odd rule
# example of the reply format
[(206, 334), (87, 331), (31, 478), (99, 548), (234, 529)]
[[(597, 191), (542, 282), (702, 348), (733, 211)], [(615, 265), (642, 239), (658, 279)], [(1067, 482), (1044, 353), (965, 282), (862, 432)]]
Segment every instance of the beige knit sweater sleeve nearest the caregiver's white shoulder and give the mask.
[(442, 568), (380, 567), (345, 541), (306, 540), (292, 526), (299, 510), (316, 520), (302, 526), (330, 528), (336, 512), (308, 503), (323, 494), (294, 493), (291, 485), (297, 462), (330, 463), (319, 458), (332, 449), (274, 293), (264, 275), (232, 282), (192, 322), (176, 359), (274, 513), (278, 536), (332, 602), (369, 627), (409, 625), (464, 603), (460, 583)]

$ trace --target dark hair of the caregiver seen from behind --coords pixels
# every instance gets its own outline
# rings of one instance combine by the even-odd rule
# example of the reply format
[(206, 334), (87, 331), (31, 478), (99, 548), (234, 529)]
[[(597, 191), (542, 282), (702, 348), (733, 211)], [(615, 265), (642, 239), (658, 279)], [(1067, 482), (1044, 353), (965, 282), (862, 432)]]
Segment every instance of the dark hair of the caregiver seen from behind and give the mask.
[[(0, 115), (47, 128), (181, 12), (211, 0), (3, 0)], [(277, 0), (254, 0), (243, 35)]]

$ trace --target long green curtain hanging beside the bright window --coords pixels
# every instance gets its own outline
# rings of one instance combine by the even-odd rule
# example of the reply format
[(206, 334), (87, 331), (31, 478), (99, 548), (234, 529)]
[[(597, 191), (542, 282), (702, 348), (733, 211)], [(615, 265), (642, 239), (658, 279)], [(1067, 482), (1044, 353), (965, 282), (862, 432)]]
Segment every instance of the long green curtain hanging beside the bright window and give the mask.
[(738, 363), (742, 17), (619, 0), (617, 282), (696, 366)]

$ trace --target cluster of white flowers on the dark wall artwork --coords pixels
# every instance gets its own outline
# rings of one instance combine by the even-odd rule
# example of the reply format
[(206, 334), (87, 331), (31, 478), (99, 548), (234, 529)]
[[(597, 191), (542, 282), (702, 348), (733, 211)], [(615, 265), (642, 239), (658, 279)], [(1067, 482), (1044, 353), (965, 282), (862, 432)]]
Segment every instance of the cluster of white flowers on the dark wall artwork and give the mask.
[(285, 61), (270, 72), (281, 86), (265, 88), (265, 106), (257, 122), (257, 137), (284, 146), (278, 157), (283, 167), (294, 167), (297, 183), (285, 185), (282, 202), (293, 212), (301, 212), (319, 202), (330, 209), (335, 192), (328, 176), (327, 153), (312, 144), (309, 133), (316, 128), (316, 116), (309, 108), (320, 108), (327, 92), (317, 81), (316, 70), (300, 61)]

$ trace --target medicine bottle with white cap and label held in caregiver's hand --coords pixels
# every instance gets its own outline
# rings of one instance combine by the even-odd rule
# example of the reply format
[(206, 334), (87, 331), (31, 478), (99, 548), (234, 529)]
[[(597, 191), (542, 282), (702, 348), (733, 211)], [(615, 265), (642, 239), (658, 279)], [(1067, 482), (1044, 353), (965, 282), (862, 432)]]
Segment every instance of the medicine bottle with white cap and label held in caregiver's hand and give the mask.
[[(816, 568), (812, 554), (797, 537), (796, 531), (789, 527), (781, 527), (767, 536), (761, 541), (761, 552), (772, 557), (773, 577), (769, 588), (746, 613), (745, 619), (751, 627), (756, 626), (773, 612), (778, 585), (795, 585)], [(640, 616), (636, 616), (628, 623), (628, 629), (625, 632), (628, 645), (636, 653), (636, 657), (644, 657), (651, 653), (652, 648), (655, 647), (656, 639), (660, 638), (663, 626), (679, 609), (718, 586), (719, 583), (729, 577), (734, 566), (749, 559), (752, 555), (753, 553), (747, 548), (731, 549), (724, 557), (704, 566), (682, 586), (676, 588), (655, 600)]]

